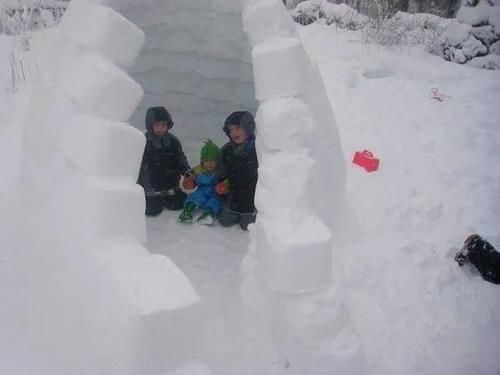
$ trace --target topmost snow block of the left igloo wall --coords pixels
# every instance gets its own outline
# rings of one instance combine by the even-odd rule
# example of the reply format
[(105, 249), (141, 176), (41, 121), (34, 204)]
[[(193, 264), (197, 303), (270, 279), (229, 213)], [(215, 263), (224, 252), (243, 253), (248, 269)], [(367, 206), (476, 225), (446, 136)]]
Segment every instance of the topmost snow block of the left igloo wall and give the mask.
[(88, 0), (72, 0), (62, 18), (62, 34), (128, 68), (145, 40), (141, 29), (111, 8)]

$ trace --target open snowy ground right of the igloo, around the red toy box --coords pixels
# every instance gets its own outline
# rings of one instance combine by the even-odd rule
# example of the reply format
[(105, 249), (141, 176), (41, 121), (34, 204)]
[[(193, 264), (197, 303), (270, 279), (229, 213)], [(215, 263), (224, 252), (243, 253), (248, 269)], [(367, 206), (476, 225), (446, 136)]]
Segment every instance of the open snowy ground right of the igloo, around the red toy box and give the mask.
[[(367, 373), (495, 374), (498, 288), (452, 256), (469, 233), (500, 240), (500, 176), (491, 167), (498, 72), (419, 51), (367, 55), (356, 34), (320, 26), (302, 36), (327, 82), (344, 152), (369, 148), (382, 162), (373, 174), (348, 168), (359, 229), (336, 258)], [(394, 74), (363, 78), (372, 66)], [(433, 87), (444, 102), (431, 98)]]

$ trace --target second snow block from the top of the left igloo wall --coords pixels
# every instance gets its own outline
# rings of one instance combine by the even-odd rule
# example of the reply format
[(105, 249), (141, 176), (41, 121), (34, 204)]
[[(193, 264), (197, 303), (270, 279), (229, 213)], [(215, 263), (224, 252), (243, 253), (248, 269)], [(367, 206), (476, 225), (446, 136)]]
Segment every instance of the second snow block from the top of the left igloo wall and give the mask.
[(127, 121), (143, 96), (138, 83), (95, 54), (75, 62), (59, 84), (80, 111), (114, 121)]

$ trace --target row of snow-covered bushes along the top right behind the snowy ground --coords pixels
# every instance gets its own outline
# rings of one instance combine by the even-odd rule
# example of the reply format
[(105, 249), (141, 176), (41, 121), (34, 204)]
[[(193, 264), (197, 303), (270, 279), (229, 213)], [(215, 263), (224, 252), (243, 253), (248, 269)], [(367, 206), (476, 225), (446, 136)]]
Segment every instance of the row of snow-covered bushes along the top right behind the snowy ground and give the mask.
[[(378, 15), (367, 17), (346, 4), (306, 0), (297, 4), (291, 14), (303, 25), (324, 22), (342, 29), (361, 30), (364, 43), (389, 47), (420, 45), (427, 52), (451, 62), (470, 62), (474, 67), (497, 69), (499, 64), (495, 56), (500, 53), (500, 5), (489, 1), (467, 2), (456, 19), (449, 19), (401, 11), (393, 15), (384, 4), (372, 3), (378, 7)], [(489, 55), (493, 56), (484, 58)]]

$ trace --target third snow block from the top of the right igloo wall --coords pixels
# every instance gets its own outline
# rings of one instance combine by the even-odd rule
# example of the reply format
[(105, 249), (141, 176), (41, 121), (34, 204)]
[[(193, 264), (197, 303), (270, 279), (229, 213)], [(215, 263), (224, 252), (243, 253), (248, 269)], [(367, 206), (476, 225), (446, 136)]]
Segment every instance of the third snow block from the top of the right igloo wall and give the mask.
[(308, 105), (299, 98), (266, 100), (256, 116), (258, 143), (268, 151), (312, 147), (316, 123)]

